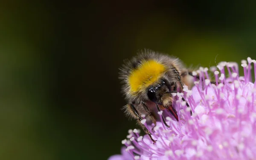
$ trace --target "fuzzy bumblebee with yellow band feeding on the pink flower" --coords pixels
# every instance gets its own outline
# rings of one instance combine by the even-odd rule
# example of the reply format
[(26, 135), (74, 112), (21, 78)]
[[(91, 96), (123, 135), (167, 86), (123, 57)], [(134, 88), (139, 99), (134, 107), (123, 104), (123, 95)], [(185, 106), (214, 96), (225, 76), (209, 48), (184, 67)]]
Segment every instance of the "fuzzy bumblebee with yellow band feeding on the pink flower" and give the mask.
[[(146, 115), (156, 126), (156, 118), (152, 112), (156, 107), (158, 111), (168, 109), (179, 121), (177, 111), (172, 107), (174, 101), (172, 93), (183, 92), (183, 85), (188, 84), (186, 76), (189, 75), (192, 73), (184, 67), (180, 59), (151, 50), (141, 51), (138, 56), (125, 61), (120, 68), (122, 93), (128, 103), (123, 107), (125, 114), (137, 119), (138, 124), (153, 142), (156, 140), (140, 123), (143, 120), (142, 115)], [(186, 103), (186, 106), (189, 107), (189, 104)], [(166, 127), (170, 127), (163, 115), (162, 118)]]

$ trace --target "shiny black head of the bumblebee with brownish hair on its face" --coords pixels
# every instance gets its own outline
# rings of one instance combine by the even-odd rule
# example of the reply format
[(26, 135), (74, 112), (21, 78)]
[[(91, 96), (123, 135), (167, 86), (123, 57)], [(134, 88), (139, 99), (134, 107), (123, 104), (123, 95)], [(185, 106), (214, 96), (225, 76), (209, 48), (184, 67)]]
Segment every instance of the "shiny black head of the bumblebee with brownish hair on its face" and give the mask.
[[(148, 87), (148, 99), (160, 105), (168, 105), (171, 100), (172, 86), (166, 79), (161, 79), (158, 84)], [(169, 100), (168, 100), (169, 99)]]

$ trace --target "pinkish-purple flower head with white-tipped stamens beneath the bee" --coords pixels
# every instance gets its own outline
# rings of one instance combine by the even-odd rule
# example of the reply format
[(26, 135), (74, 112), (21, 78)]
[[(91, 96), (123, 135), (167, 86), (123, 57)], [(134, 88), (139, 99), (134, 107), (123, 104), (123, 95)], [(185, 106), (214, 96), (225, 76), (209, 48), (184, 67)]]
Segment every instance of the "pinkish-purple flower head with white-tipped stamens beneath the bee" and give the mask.
[(256, 83), (251, 82), (251, 64), (256, 77), (256, 61), (248, 58), (247, 62), (241, 64), (244, 76), (239, 76), (236, 63), (220, 62), (219, 71), (211, 68), (215, 83), (210, 82), (208, 69), (200, 67), (196, 71), (200, 81), (195, 81), (192, 90), (184, 86), (183, 93), (173, 95), (179, 121), (167, 111), (158, 112), (166, 115), (170, 127), (162, 119), (155, 127), (145, 124), (156, 143), (148, 135), (139, 135), (137, 129), (130, 130), (122, 140), (126, 152), (109, 160), (255, 159)]

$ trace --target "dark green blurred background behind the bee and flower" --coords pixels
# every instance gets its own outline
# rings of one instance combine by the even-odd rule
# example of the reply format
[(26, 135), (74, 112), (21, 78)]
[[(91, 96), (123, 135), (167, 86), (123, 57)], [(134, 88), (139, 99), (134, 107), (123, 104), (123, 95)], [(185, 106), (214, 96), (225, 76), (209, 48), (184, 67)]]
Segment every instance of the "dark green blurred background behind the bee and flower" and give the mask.
[(140, 49), (187, 66), (256, 58), (255, 1), (0, 2), (1, 160), (106, 160), (133, 129), (118, 68)]

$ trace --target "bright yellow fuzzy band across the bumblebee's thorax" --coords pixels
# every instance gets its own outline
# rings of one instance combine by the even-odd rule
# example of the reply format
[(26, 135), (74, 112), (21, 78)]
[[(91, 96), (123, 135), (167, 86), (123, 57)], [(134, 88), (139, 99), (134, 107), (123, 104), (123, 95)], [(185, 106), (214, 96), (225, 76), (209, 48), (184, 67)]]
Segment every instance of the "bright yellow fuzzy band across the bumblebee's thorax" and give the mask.
[(143, 61), (139, 67), (131, 71), (128, 78), (131, 92), (136, 93), (157, 81), (165, 71), (165, 66), (155, 60)]

